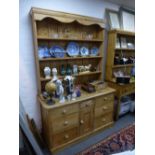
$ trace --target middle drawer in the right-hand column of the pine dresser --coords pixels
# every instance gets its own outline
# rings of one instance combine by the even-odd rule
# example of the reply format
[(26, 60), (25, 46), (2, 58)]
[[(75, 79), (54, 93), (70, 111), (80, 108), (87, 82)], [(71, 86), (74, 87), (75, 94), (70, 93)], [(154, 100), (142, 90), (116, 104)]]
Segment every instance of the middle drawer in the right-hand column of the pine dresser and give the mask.
[(114, 102), (110, 101), (109, 103), (104, 103), (100, 107), (95, 108), (95, 117), (99, 117), (106, 113), (112, 112), (114, 107)]

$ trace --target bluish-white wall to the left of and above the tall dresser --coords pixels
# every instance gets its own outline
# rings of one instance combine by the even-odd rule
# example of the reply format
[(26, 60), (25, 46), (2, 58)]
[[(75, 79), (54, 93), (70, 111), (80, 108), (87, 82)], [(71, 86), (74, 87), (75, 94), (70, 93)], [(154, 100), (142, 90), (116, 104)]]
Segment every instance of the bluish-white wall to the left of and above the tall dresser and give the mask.
[(40, 109), (37, 103), (36, 70), (33, 55), (33, 36), (29, 11), (31, 7), (104, 18), (105, 8), (118, 10), (119, 6), (104, 0), (20, 0), (19, 8), (19, 93), (25, 111), (41, 127)]

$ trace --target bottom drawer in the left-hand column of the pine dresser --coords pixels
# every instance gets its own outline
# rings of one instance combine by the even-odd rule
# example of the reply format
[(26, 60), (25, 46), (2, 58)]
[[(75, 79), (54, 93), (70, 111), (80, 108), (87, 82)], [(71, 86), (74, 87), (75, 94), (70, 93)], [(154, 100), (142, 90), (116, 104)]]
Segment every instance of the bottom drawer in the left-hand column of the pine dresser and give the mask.
[(75, 139), (77, 136), (78, 136), (78, 128), (72, 128), (59, 134), (55, 134), (52, 137), (53, 147), (67, 143), (68, 141)]

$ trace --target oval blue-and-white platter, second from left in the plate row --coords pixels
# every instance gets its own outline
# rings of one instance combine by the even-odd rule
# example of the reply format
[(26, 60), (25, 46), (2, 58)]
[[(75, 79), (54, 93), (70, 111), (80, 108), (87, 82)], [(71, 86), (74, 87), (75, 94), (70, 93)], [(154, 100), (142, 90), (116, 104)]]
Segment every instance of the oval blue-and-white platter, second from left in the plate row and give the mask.
[(61, 46), (55, 45), (50, 48), (50, 54), (55, 58), (63, 58), (65, 56), (65, 51)]

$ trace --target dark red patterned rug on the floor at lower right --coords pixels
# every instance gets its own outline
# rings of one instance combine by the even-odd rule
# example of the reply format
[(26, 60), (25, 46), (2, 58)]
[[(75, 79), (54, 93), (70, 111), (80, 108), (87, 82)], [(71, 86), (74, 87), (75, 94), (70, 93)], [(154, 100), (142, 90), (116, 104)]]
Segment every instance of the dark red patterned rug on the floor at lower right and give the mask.
[(77, 155), (110, 155), (135, 148), (135, 125), (129, 125), (118, 133), (91, 146)]

